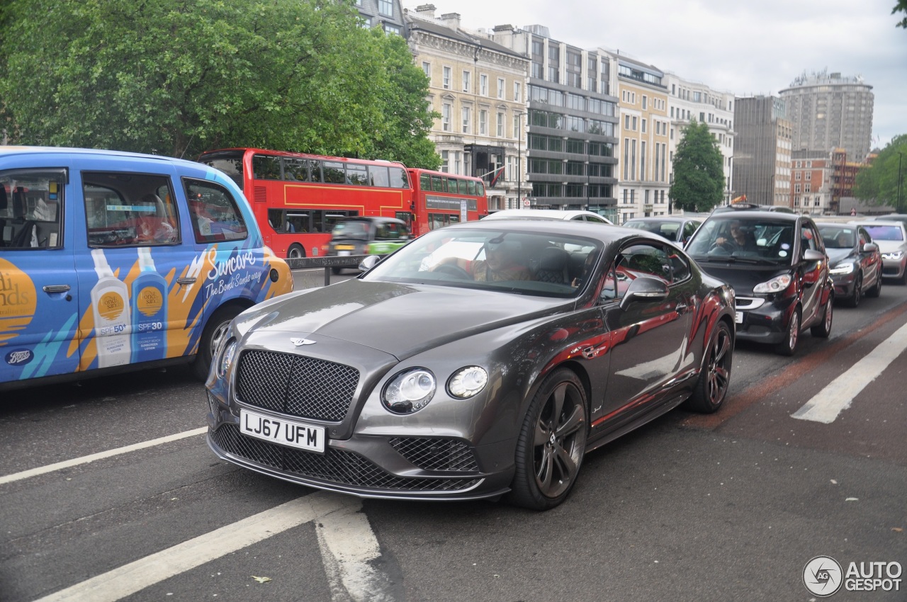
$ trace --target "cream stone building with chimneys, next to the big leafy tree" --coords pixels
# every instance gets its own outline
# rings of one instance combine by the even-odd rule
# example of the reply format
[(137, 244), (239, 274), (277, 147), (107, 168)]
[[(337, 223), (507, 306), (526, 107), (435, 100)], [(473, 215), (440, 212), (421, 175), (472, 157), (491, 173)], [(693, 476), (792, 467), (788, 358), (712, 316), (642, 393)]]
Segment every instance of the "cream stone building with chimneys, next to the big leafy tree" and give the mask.
[[(529, 59), (463, 30), (460, 15), (436, 18), (434, 10), (420, 5), (404, 18), (414, 62), (430, 80), (428, 100), (441, 113), (429, 133), (441, 170), (484, 177), (488, 209), (516, 208), (525, 186), (516, 166), (525, 159)], [(503, 177), (495, 179), (502, 167)]]

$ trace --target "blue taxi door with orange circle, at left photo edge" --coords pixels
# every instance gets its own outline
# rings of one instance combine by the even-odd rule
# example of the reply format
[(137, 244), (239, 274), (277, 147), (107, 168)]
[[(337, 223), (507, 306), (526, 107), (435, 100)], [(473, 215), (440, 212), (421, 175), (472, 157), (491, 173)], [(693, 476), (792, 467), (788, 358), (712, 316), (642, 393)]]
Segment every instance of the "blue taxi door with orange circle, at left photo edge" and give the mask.
[(0, 164), (0, 383), (79, 365), (78, 214), (70, 170), (57, 157)]

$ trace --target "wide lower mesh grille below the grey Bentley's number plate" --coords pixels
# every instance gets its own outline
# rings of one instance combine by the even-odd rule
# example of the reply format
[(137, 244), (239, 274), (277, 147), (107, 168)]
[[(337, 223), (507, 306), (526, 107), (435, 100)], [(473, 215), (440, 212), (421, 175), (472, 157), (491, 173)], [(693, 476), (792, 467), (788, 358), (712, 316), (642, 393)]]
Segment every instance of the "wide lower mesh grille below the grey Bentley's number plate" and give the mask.
[(239, 433), (236, 424), (223, 424), (211, 440), (224, 452), (317, 481), (368, 489), (406, 491), (463, 490), (478, 479), (402, 479), (385, 472), (355, 452), (328, 447), (317, 454), (259, 441)]

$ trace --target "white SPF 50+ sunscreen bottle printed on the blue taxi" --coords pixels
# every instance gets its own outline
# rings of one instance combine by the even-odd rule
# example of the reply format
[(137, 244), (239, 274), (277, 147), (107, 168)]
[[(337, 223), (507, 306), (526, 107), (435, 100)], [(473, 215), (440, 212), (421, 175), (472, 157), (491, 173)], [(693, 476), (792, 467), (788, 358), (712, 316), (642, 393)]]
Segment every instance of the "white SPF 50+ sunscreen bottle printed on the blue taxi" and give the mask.
[(129, 364), (129, 288), (113, 276), (103, 249), (92, 249), (98, 282), (92, 288), (94, 344), (98, 367)]

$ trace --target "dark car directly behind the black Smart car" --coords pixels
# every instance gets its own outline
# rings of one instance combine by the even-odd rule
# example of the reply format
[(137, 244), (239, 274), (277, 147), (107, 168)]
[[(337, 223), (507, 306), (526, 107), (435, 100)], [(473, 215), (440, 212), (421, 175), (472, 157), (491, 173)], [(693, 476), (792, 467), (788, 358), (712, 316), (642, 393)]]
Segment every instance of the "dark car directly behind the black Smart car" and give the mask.
[(816, 223), (828, 254), (834, 298), (848, 306), (860, 305), (863, 294), (882, 293), (882, 253), (863, 226), (819, 221)]

